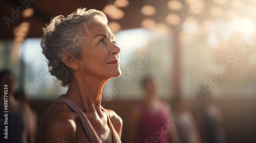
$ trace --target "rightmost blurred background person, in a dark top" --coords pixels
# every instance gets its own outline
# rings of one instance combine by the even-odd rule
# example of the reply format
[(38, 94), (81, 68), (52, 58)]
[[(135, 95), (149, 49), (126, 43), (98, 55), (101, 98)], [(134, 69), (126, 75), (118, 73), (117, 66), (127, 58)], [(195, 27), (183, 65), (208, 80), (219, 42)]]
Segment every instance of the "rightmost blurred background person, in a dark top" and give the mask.
[(221, 109), (215, 105), (210, 91), (199, 98), (198, 107), (196, 107), (194, 114), (203, 143), (227, 142), (222, 124)]

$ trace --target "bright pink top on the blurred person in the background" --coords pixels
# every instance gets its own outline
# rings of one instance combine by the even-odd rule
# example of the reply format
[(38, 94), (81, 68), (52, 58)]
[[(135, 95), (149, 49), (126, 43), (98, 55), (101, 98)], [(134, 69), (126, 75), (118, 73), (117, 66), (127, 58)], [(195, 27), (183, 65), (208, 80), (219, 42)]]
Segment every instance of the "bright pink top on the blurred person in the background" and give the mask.
[(138, 125), (137, 142), (168, 142), (168, 123), (169, 116), (167, 108), (159, 103), (159, 111), (153, 113), (148, 110), (145, 103), (140, 104), (141, 120)]

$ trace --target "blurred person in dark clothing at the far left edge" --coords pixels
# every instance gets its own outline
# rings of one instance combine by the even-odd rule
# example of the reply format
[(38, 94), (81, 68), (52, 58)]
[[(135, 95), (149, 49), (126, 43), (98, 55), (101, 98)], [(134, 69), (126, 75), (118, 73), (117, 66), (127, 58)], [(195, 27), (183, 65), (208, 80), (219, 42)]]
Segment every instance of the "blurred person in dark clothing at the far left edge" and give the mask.
[[(31, 141), (29, 128), (22, 105), (14, 98), (16, 90), (14, 77), (11, 71), (0, 72), (0, 142), (27, 143)], [(7, 85), (7, 86), (5, 86)], [(7, 94), (5, 94), (7, 93)], [(7, 101), (7, 102), (6, 102)], [(7, 103), (7, 104), (4, 104)], [(7, 105), (7, 106), (6, 106)], [(4, 112), (9, 111), (9, 112)], [(7, 128), (6, 128), (7, 127)], [(7, 129), (7, 132), (4, 131)], [(7, 133), (7, 134), (5, 134)], [(4, 138), (7, 136), (8, 139)]]

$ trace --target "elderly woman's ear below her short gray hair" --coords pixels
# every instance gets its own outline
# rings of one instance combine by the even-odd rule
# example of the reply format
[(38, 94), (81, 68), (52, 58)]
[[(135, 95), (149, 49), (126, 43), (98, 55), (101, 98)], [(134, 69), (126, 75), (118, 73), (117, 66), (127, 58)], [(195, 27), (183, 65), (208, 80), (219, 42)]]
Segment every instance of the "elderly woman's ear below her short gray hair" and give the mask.
[(72, 55), (69, 51), (67, 51), (67, 50), (61, 51), (60, 59), (68, 67), (70, 67), (74, 70), (79, 69), (79, 65), (77, 64), (78, 63), (77, 58), (74, 55)]

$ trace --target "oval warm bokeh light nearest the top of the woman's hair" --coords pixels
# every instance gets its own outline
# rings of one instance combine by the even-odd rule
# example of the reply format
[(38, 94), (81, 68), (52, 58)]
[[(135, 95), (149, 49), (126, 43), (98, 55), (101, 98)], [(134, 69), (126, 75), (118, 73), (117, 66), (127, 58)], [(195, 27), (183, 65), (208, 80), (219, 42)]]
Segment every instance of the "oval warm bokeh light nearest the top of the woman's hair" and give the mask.
[(106, 5), (103, 12), (112, 19), (122, 19), (124, 17), (124, 12), (116, 5)]

